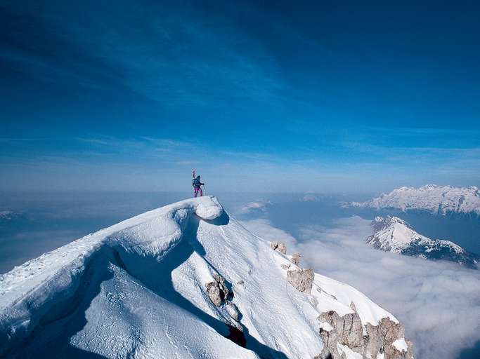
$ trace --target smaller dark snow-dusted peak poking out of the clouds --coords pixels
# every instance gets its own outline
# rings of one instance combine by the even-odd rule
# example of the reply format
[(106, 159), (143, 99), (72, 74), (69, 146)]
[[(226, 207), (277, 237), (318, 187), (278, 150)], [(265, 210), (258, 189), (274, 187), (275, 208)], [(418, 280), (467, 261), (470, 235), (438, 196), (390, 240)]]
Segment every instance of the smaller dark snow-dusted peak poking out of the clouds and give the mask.
[(448, 260), (472, 269), (476, 269), (480, 261), (479, 256), (467, 252), (460, 245), (422, 236), (398, 217), (375, 217), (372, 226), (375, 233), (367, 238), (367, 243), (380, 250), (425, 259)]

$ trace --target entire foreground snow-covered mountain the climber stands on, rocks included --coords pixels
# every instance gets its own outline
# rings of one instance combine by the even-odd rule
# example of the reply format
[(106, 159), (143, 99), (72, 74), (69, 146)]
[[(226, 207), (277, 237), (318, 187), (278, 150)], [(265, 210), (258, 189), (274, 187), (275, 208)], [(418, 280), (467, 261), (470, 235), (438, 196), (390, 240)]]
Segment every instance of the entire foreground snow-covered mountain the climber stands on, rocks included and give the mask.
[(394, 316), (290, 259), (214, 197), (146, 212), (1, 276), (0, 357), (413, 358)]

